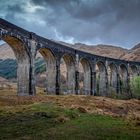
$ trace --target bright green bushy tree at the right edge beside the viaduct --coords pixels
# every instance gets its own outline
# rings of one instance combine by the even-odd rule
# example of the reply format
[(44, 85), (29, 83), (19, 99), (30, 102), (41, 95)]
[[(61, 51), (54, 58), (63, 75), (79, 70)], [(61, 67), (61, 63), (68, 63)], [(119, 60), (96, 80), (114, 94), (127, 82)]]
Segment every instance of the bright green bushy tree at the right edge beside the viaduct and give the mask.
[(130, 85), (133, 97), (140, 99), (140, 76), (134, 77)]

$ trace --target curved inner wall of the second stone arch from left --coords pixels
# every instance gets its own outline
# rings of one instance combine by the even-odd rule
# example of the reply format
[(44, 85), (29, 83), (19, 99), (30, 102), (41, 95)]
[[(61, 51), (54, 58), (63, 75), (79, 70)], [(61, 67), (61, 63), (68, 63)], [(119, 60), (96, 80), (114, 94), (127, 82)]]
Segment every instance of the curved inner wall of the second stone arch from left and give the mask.
[(56, 93), (56, 57), (51, 49), (40, 48), (38, 50), (46, 62), (46, 82), (47, 94)]

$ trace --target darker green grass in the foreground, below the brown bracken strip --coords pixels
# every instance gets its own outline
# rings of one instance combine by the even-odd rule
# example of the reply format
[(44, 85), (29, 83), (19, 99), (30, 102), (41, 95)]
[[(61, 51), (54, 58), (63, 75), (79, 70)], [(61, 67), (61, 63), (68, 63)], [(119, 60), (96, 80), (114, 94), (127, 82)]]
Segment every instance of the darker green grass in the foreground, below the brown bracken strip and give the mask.
[(139, 140), (140, 126), (52, 102), (0, 107), (0, 140)]

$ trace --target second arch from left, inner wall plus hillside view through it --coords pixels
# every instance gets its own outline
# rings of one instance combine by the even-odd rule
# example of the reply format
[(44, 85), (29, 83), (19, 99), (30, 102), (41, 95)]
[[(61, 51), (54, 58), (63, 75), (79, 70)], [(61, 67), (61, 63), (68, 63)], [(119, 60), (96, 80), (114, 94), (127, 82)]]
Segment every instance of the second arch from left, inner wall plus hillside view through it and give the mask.
[[(47, 48), (39, 49), (41, 55), (37, 55), (36, 82), (39, 87), (45, 88), (47, 94), (56, 93), (56, 59), (53, 52)], [(43, 59), (42, 59), (43, 56)]]

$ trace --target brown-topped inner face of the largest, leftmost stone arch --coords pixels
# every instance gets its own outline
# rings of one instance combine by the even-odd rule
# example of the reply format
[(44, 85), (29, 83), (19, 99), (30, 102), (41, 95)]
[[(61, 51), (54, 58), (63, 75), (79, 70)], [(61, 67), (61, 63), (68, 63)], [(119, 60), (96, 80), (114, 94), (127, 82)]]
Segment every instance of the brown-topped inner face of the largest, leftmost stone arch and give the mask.
[(27, 44), (20, 36), (3, 34), (1, 40), (5, 41), (13, 50), (17, 61), (17, 93), (18, 95), (33, 95), (32, 83), (30, 82), (30, 56)]

